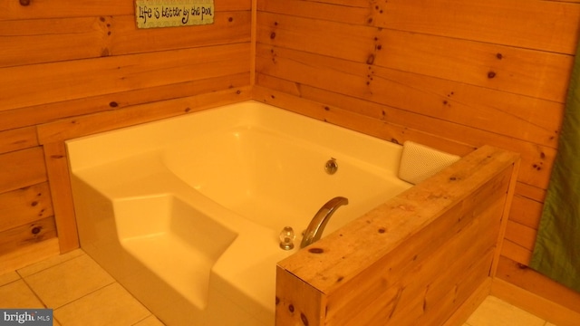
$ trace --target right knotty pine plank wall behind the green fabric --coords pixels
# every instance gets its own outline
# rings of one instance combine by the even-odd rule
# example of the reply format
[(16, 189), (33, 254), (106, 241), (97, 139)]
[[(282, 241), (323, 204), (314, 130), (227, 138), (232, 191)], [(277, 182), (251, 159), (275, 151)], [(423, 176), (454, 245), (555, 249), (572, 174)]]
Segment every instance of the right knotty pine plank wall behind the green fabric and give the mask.
[(521, 153), (498, 277), (580, 312), (527, 268), (580, 1), (258, 0), (254, 97), (402, 143)]

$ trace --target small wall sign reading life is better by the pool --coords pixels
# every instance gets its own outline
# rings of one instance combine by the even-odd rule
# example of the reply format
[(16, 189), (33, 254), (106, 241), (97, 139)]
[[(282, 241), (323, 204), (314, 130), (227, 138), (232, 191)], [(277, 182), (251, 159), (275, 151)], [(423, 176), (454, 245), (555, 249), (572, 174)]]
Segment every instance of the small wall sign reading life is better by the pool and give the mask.
[(137, 28), (214, 23), (214, 0), (135, 0)]

